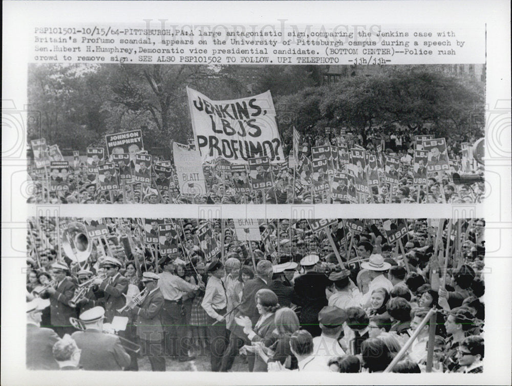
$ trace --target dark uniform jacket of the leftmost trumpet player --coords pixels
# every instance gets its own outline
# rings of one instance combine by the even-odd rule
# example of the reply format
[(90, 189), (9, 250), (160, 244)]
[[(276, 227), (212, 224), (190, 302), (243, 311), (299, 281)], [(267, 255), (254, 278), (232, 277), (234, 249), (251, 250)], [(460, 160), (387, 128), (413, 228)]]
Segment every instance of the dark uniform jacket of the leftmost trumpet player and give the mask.
[(42, 298), (50, 298), (50, 320), (52, 326), (71, 326), (69, 318), (76, 317), (76, 310), (68, 305), (68, 302), (75, 294), (76, 285), (73, 281), (66, 277), (60, 283), (53, 294), (45, 292)]

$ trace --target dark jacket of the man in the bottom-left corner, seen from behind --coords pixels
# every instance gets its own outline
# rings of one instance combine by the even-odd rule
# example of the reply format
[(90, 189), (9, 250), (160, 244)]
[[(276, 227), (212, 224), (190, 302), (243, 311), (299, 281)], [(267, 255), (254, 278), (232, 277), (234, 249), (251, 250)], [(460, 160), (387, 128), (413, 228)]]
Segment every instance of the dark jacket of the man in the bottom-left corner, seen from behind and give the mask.
[(58, 370), (59, 365), (52, 354), (57, 340), (59, 336), (52, 329), (27, 324), (27, 369)]

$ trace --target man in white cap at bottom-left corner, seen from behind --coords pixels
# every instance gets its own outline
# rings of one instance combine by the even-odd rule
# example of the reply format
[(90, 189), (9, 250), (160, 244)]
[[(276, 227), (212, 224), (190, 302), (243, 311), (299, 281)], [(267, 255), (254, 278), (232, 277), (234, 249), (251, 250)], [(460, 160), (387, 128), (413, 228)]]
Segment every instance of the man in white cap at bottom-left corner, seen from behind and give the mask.
[(43, 302), (36, 297), (32, 302), (27, 303), (26, 364), (28, 370), (59, 368), (52, 357), (52, 348), (59, 340), (59, 336), (50, 328), (40, 327)]

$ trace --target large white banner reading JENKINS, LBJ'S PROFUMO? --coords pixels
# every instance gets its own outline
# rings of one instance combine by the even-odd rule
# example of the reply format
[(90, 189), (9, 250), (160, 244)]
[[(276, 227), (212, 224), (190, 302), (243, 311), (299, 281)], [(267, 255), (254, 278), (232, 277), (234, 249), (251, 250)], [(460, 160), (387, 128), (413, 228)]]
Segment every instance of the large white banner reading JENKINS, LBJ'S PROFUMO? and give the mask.
[(270, 91), (247, 98), (211, 100), (187, 87), (196, 149), (203, 162), (222, 157), (247, 164), (248, 158), (285, 158)]

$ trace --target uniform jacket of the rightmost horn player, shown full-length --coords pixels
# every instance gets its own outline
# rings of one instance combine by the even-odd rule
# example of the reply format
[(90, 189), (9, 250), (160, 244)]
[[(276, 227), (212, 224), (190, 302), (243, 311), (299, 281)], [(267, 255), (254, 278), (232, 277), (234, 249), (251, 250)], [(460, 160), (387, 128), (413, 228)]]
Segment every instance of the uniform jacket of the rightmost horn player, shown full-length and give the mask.
[(137, 335), (143, 340), (160, 341), (163, 328), (160, 311), (164, 303), (162, 292), (157, 288), (147, 295), (140, 307), (135, 306), (132, 313), (137, 315)]

